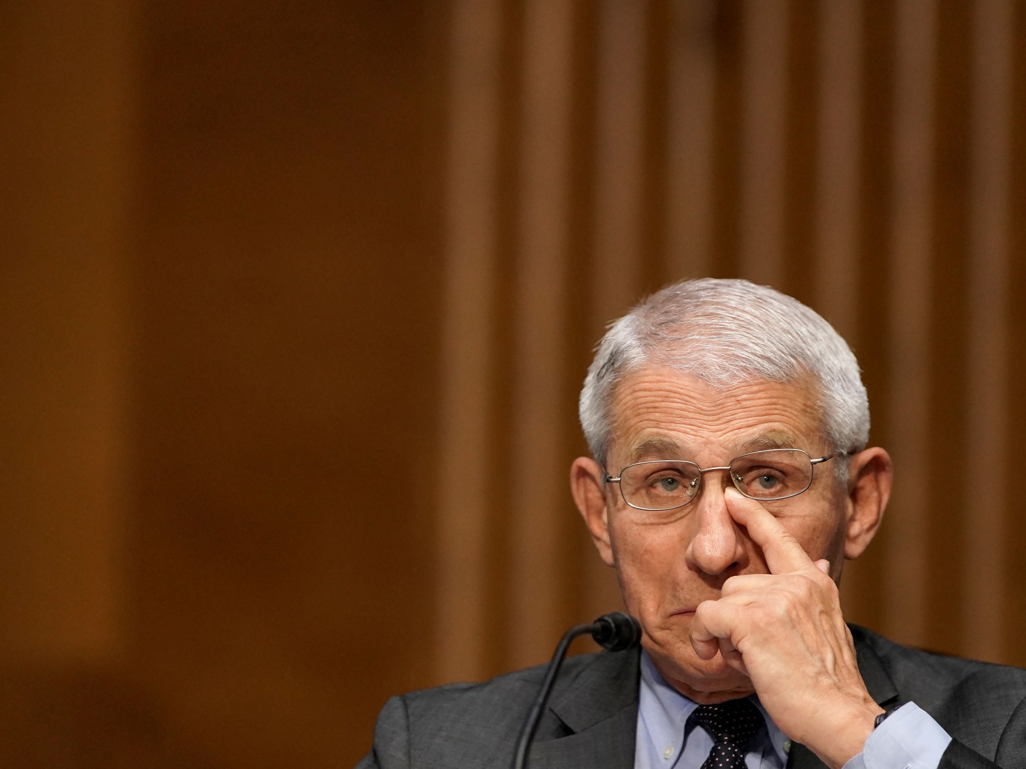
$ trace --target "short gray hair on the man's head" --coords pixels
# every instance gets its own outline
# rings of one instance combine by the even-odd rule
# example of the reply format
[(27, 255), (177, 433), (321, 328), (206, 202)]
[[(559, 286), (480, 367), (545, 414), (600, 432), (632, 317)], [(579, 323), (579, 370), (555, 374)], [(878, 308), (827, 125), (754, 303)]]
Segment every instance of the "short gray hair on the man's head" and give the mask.
[[(824, 437), (834, 450), (861, 451), (869, 440), (869, 400), (851, 348), (820, 315), (768, 286), (681, 281), (609, 326), (580, 403), (588, 448), (603, 467), (617, 383), (645, 365), (667, 366), (715, 387), (753, 379), (794, 382), (811, 374), (819, 389)], [(843, 472), (847, 463), (837, 467)]]

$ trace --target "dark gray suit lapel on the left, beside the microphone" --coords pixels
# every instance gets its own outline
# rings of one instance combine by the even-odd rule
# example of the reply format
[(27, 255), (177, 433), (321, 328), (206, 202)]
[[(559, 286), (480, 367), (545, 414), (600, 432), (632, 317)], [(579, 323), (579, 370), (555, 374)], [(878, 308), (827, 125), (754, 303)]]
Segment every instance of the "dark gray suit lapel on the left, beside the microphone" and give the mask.
[(536, 741), (531, 769), (631, 769), (638, 714), (638, 650), (595, 656), (549, 704), (567, 736)]

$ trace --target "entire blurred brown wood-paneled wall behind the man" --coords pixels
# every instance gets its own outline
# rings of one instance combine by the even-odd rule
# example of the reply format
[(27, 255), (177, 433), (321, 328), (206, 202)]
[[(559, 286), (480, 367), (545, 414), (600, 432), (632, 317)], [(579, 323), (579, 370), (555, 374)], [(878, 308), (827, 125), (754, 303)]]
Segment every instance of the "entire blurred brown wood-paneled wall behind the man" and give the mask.
[(0, 757), (336, 767), (618, 604), (603, 325), (812, 305), (898, 491), (849, 616), (1026, 664), (1026, 2), (0, 2)]

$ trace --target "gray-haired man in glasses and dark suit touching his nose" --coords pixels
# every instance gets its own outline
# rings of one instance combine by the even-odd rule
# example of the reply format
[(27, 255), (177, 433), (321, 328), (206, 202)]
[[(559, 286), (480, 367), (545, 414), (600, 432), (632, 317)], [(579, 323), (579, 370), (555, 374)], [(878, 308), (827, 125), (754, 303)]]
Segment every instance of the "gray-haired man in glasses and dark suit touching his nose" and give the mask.
[[(1026, 766), (1026, 672), (844, 623), (892, 469), (820, 316), (745, 281), (670, 286), (602, 339), (581, 423), (570, 488), (642, 649), (566, 662), (528, 766)], [(541, 677), (393, 697), (361, 769), (506, 769)]]

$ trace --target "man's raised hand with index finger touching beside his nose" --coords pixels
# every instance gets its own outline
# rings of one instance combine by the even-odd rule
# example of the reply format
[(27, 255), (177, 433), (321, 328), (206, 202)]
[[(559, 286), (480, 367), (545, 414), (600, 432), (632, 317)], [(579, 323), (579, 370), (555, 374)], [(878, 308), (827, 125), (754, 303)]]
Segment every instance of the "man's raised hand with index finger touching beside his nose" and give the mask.
[(839, 769), (862, 752), (883, 709), (859, 673), (829, 563), (814, 563), (754, 499), (728, 488), (726, 505), (762, 549), (770, 573), (733, 576), (718, 601), (700, 604), (692, 646), (703, 659), (722, 654), (751, 679), (785, 734)]

